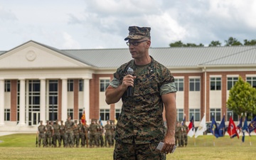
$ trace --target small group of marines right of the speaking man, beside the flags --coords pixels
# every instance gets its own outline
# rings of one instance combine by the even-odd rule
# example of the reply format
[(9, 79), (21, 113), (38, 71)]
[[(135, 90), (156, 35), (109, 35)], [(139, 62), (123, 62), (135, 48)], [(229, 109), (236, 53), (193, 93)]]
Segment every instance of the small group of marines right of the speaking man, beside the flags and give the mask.
[(175, 128), (175, 145), (183, 147), (188, 144), (188, 126), (183, 122), (177, 122)]

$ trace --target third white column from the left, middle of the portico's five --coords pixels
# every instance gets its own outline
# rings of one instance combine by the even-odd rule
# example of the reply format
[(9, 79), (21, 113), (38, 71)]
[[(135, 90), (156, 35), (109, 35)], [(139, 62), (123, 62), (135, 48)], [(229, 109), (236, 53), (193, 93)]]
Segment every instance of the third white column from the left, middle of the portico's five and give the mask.
[(46, 123), (46, 79), (40, 80), (40, 120)]

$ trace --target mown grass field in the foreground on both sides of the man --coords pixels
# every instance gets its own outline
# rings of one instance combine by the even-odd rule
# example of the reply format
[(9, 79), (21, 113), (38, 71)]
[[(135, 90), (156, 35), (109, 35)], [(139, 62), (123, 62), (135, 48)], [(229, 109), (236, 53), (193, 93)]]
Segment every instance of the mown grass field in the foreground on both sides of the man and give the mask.
[[(215, 146), (213, 146), (213, 141)], [(250, 145), (250, 142), (252, 145)], [(188, 146), (177, 148), (167, 159), (256, 159), (256, 136), (213, 139), (212, 135), (188, 137)], [(112, 159), (113, 148), (37, 148), (36, 134), (11, 134), (0, 137), (0, 159)]]

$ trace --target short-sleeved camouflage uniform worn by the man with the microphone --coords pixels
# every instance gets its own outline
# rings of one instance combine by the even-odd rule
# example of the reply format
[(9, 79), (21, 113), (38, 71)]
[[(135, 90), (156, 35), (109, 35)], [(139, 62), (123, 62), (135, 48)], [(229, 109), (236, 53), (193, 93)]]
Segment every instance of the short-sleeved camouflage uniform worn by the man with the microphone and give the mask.
[[(161, 95), (176, 92), (174, 77), (168, 68), (151, 57), (149, 65), (140, 67), (134, 60), (125, 63), (114, 73), (110, 85), (114, 88), (122, 84), (127, 69), (134, 70), (133, 96), (127, 92), (122, 95), (122, 112), (117, 122), (115, 134), (114, 159), (166, 159), (166, 154), (156, 149), (163, 142), (165, 127), (163, 120), (164, 105)], [(132, 150), (130, 150), (132, 149)], [(130, 152), (129, 153), (127, 153)], [(154, 152), (155, 157), (150, 157)]]

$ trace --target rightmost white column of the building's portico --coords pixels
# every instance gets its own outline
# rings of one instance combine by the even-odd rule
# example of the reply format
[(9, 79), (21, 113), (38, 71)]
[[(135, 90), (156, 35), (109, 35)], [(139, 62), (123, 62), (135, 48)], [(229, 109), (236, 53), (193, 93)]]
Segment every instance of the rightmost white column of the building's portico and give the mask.
[(89, 122), (90, 119), (90, 80), (84, 79), (84, 94), (83, 94), (83, 100), (84, 100), (84, 108), (85, 108), (85, 119), (87, 122)]

